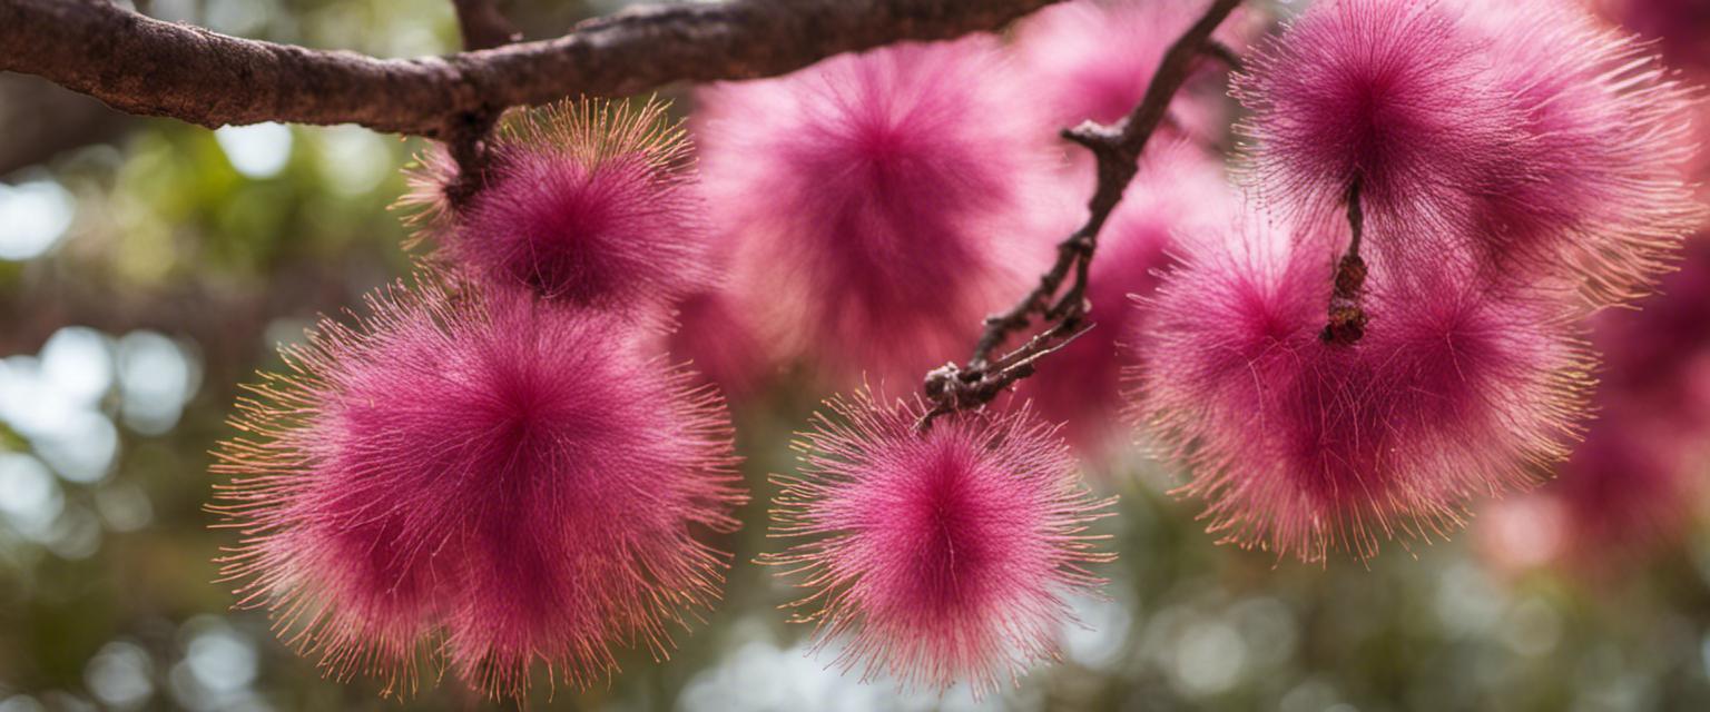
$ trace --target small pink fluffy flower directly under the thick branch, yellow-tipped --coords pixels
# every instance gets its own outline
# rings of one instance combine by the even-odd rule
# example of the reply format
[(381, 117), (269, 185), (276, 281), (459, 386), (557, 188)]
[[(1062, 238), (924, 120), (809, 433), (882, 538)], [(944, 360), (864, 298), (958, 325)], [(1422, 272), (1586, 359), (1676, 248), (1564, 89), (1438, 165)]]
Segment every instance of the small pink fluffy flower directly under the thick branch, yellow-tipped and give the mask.
[(446, 198), (439, 152), (410, 176), (414, 222), (477, 278), (592, 307), (657, 307), (706, 287), (706, 205), (667, 104), (563, 102), (506, 121), (479, 191)]

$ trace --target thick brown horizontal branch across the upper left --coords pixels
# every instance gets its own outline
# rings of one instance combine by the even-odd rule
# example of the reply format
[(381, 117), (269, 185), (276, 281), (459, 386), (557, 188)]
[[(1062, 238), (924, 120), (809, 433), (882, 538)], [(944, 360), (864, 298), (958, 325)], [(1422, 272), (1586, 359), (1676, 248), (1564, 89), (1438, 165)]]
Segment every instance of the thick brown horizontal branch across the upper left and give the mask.
[(133, 114), (209, 128), (357, 123), (450, 138), (469, 116), (496, 108), (778, 75), (845, 51), (997, 29), (1053, 2), (653, 5), (583, 22), (557, 39), (378, 60), (231, 38), (106, 2), (0, 0), (0, 70), (41, 75)]

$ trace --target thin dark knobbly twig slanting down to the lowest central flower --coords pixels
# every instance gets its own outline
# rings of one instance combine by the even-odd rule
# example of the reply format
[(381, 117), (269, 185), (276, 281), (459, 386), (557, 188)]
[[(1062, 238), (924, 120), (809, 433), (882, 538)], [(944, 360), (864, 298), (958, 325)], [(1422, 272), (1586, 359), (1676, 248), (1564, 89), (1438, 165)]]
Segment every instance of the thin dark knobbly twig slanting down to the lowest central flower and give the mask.
[[(990, 403), (1016, 381), (1033, 376), (1038, 359), (1057, 352), (1091, 328), (1086, 323), (1086, 285), (1093, 253), (1098, 249), (1098, 232), (1139, 172), (1141, 152), (1163, 125), (1170, 101), (1187, 84), (1195, 60), (1207, 51), (1211, 32), (1240, 3), (1241, 0), (1214, 0), (1199, 22), (1176, 38), (1153, 73), (1151, 84), (1146, 85), (1146, 96), (1127, 118), (1112, 126), (1088, 121), (1064, 130), (1064, 138), (1091, 150), (1098, 164), (1098, 186), (1088, 201), (1086, 224), (1057, 244), (1057, 263), (1040, 277), (1038, 287), (1009, 311), (985, 319), (985, 330), (966, 367), (946, 364), (927, 374), (923, 389), (932, 408), (920, 418), (918, 429), (929, 429), (932, 418), (939, 415)], [(1070, 275), (1074, 282), (1058, 297), (1057, 292)], [(1035, 314), (1050, 326), (994, 360), (994, 352), (1016, 331), (1028, 328)]]

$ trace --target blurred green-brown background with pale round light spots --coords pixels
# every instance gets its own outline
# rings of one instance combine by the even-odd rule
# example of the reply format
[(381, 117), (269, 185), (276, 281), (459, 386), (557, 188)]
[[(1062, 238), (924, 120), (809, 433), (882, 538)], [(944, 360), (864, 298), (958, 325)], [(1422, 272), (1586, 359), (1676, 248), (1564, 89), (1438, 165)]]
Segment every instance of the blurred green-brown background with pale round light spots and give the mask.
[[(378, 56), (458, 46), (445, 0), (137, 5)], [(501, 3), (532, 38), (621, 5)], [(1710, 3), (1674, 0), (1676, 20), (1624, 5), (1604, 10), (1667, 34), (1671, 60), (1710, 73)], [(1681, 20), (1693, 12), (1703, 24)], [(323, 680), (265, 613), (229, 610), (210, 558), (231, 534), (202, 511), (207, 451), (229, 434), (238, 384), (277, 367), (275, 347), (318, 314), (407, 271), (388, 203), (419, 149), (354, 126), (207, 131), (0, 75), (0, 712), (487, 705), (450, 678), (402, 703), (369, 681)], [(1368, 563), (1277, 562), (1218, 546), (1197, 505), (1166, 495), (1176, 473), (1127, 451), (1089, 461), (1093, 487), (1122, 497), (1101, 522), (1120, 553), (1103, 569), (1108, 599), (1077, 601), (1084, 625), (1065, 630), (1062, 664), (985, 700), (864, 685), (783, 623), (790, 589), (752, 563), (773, 546), (766, 473), (793, 468), (788, 435), (821, 394), (773, 382), (737, 410), (754, 500), (722, 541), (737, 562), (725, 601), (670, 661), (628, 654), (609, 686), (540, 685), (532, 707), (1710, 709), (1710, 524), (1696, 487), (1710, 437), (1688, 427), (1710, 411), (1710, 254), (1703, 239), (1693, 251), (1645, 311), (1597, 324), (1613, 423), (1592, 434), (1599, 456), (1483, 507), (1447, 541)], [(1607, 507), (1630, 516), (1599, 516)]]

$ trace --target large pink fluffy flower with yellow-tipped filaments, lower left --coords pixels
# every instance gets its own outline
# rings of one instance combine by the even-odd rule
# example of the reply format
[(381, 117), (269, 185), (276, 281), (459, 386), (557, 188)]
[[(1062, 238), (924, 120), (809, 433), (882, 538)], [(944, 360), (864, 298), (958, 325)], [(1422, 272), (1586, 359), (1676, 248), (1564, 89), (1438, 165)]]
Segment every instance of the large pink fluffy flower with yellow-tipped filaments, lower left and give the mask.
[(621, 316), (431, 275), (368, 307), (287, 348), (217, 451), (239, 604), (400, 695), (428, 651), (518, 698), (535, 662), (580, 686), (612, 645), (662, 656), (727, 567), (693, 533), (746, 499), (716, 394)]

